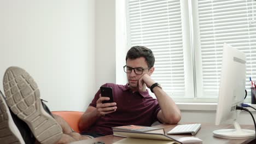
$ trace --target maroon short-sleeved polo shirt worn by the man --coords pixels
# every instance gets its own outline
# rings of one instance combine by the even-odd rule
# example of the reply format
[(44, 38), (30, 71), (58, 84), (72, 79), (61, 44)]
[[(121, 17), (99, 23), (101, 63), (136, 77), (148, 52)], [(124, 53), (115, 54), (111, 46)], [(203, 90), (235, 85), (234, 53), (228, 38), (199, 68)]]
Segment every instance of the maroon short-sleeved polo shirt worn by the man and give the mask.
[[(85, 132), (112, 135), (112, 127), (130, 124), (150, 126), (155, 121), (158, 121), (157, 115), (161, 108), (158, 100), (152, 98), (148, 91), (133, 93), (128, 83), (125, 86), (113, 83), (106, 83), (103, 86), (113, 88), (113, 97), (114, 102), (117, 103), (117, 111), (99, 118)], [(95, 94), (89, 106), (96, 107), (96, 101), (99, 97), (100, 90)]]

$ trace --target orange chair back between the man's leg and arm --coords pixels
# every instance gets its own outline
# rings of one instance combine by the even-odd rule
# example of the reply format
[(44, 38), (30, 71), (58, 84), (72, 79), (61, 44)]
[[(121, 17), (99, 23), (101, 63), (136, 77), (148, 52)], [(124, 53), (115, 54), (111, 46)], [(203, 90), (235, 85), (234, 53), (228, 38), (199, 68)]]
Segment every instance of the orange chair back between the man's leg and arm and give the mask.
[(51, 113), (54, 113), (55, 115), (61, 116), (75, 132), (80, 133), (78, 124), (79, 124), (79, 119), (83, 115), (84, 112), (80, 112), (80, 111), (52, 111)]

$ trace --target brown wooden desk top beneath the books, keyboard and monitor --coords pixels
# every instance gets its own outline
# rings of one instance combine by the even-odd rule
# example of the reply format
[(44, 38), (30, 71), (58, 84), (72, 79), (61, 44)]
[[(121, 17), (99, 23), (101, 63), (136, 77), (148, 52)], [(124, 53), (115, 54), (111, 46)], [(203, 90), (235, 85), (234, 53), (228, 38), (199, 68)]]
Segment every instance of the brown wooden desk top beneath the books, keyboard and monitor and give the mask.
[[(176, 125), (171, 125), (171, 124), (159, 124), (155, 125), (154, 127), (158, 128), (164, 128), (165, 133), (167, 131), (170, 131), (172, 128), (174, 128)], [(195, 137), (199, 137), (203, 141), (203, 143), (206, 144), (211, 144), (211, 143), (218, 143), (218, 144), (224, 144), (224, 143), (248, 143), (252, 141), (254, 138), (249, 138), (249, 139), (222, 139), (218, 137), (214, 137), (212, 131), (217, 130), (217, 129), (230, 129), (233, 128), (232, 125), (214, 125), (214, 124), (206, 124), (202, 123), (201, 129), (197, 132)], [(254, 130), (254, 125), (241, 125), (241, 128), (243, 129), (251, 129)], [(179, 137), (184, 137), (184, 136), (191, 136), (191, 135), (168, 135), (173, 137), (174, 139), (178, 139)], [(72, 144), (82, 144), (82, 143), (88, 143), (92, 144), (97, 141), (102, 141), (105, 144), (111, 144), (116, 141), (119, 141), (121, 139), (124, 139), (123, 137), (118, 137), (118, 136), (113, 136), (113, 135), (107, 135), (107, 136), (102, 136), (102, 137), (97, 137), (94, 139), (90, 140), (83, 140), (83, 141), (77, 141), (77, 142), (72, 142)]]

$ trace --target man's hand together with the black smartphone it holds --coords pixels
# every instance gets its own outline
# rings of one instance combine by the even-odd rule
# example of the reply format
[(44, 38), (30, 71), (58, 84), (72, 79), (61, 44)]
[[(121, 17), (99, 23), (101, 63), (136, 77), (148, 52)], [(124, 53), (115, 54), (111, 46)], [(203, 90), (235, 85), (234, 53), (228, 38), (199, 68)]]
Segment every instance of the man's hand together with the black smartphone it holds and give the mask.
[(97, 100), (97, 115), (104, 116), (117, 110), (117, 103), (113, 102), (113, 92), (110, 87), (101, 87), (100, 98)]

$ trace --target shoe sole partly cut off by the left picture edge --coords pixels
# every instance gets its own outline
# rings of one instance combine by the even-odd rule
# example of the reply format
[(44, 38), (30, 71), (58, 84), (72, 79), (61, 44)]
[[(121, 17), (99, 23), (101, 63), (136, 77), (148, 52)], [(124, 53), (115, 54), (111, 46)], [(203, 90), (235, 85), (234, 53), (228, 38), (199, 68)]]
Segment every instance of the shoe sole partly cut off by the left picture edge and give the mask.
[(0, 141), (3, 144), (16, 143), (25, 144), (19, 129), (11, 117), (9, 108), (0, 93)]

